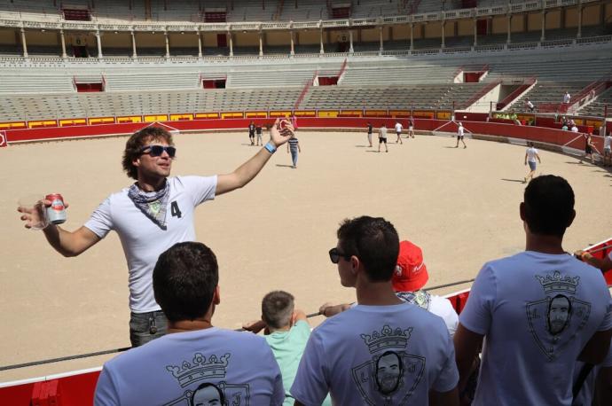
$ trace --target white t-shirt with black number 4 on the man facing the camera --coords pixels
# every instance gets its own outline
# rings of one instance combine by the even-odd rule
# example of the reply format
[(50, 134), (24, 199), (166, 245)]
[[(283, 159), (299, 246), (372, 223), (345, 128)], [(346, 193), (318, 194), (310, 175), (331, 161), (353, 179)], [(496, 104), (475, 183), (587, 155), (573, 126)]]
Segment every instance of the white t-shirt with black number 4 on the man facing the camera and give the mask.
[(194, 208), (215, 199), (216, 176), (169, 177), (166, 230), (128, 197), (128, 188), (110, 195), (85, 227), (99, 238), (117, 231), (129, 269), (129, 308), (135, 313), (159, 310), (153, 297), (153, 268), (161, 253), (178, 242), (195, 241)]

